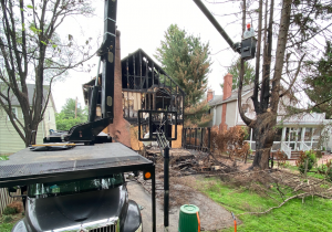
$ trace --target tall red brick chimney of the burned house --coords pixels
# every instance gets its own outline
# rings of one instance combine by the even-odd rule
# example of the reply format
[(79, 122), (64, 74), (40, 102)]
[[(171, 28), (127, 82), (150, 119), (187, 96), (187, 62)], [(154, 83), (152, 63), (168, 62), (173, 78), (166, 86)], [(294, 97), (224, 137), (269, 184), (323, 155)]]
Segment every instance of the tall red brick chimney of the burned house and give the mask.
[(113, 141), (120, 141), (131, 147), (131, 124), (123, 118), (122, 105), (122, 68), (121, 68), (121, 43), (120, 31), (116, 30), (115, 40), (115, 71), (114, 71), (114, 118), (107, 131)]

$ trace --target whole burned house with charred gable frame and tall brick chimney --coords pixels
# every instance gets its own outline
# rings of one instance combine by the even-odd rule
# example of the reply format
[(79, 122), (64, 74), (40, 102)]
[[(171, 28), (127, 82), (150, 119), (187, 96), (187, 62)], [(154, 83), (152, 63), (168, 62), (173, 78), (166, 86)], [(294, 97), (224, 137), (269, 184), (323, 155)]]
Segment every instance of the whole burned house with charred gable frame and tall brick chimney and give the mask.
[[(103, 131), (135, 150), (143, 147), (138, 141), (138, 110), (167, 110), (177, 113), (177, 140), (172, 147), (180, 147), (184, 123), (184, 91), (143, 50), (121, 60), (120, 32), (116, 33), (115, 75), (114, 75), (114, 118)], [(98, 76), (98, 83), (102, 76)], [(91, 99), (95, 80), (83, 85), (85, 104)], [(96, 119), (102, 116), (98, 101)], [(169, 130), (169, 133), (174, 133)]]

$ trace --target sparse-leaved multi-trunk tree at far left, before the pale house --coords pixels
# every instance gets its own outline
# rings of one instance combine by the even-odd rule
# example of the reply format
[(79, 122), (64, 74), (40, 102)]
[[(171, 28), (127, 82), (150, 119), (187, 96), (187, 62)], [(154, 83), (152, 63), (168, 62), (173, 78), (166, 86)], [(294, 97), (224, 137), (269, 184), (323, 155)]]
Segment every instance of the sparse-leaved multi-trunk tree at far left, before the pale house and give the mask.
[[(4, 0), (0, 3), (2, 25), (6, 28), (0, 33), (0, 55), (3, 57), (3, 65), (0, 67), (0, 82), (8, 88), (8, 93), (0, 91), (0, 107), (7, 113), (25, 146), (35, 144), (38, 125), (43, 118), (49, 102), (52, 81), (93, 56), (85, 51), (82, 53), (85, 46), (74, 45), (75, 49), (72, 49), (73, 53), (70, 53), (70, 56), (74, 57), (74, 54), (79, 54), (82, 55), (82, 60), (73, 62), (75, 59), (70, 59), (72, 62), (66, 62), (69, 61), (66, 60), (68, 54), (61, 52), (60, 49), (56, 50), (58, 45), (59, 48), (62, 46), (62, 43), (52, 39), (55, 30), (66, 17), (74, 14), (92, 15), (93, 10), (87, 7), (91, 4), (90, 1), (79, 1), (75, 4), (70, 0), (41, 1), (39, 3), (31, 1), (30, 3), (32, 11), (29, 10), (29, 12), (22, 10), (27, 6), (23, 0), (17, 2)], [(60, 6), (65, 6), (65, 8)], [(49, 14), (51, 9), (53, 14)], [(30, 33), (30, 30), (24, 30), (27, 17), (30, 17), (28, 21), (33, 22), (32, 25), (38, 33)], [(87, 45), (87, 43), (85, 44)], [(56, 55), (54, 55), (55, 53)], [(51, 66), (44, 65), (46, 59), (52, 61)], [(29, 71), (29, 67), (33, 67), (33, 71)], [(44, 94), (45, 70), (54, 71), (51, 72), (52, 77), (49, 75), (51, 78), (49, 94)], [(34, 93), (28, 93), (27, 78), (29, 73), (30, 77), (34, 73)], [(12, 96), (9, 97), (9, 91), (18, 99), (23, 119), (18, 118), (12, 113)], [(28, 95), (33, 96), (32, 99)]]

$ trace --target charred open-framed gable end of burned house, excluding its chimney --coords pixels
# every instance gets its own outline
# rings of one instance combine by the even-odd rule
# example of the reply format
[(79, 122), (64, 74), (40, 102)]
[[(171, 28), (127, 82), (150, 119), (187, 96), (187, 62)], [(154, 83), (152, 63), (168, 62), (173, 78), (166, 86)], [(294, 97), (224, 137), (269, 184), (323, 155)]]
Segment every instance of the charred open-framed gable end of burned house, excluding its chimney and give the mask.
[(121, 61), (123, 116), (137, 122), (139, 109), (177, 112), (184, 119), (184, 91), (143, 50)]

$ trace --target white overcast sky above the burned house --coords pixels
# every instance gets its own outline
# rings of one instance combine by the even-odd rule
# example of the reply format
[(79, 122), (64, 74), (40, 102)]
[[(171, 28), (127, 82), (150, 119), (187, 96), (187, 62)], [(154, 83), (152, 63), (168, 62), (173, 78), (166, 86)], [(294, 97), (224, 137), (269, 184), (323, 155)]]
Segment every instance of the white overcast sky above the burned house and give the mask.
[[(227, 7), (226, 4), (209, 4), (206, 1), (204, 3), (212, 13), (221, 14), (240, 11), (239, 3), (229, 3)], [(95, 1), (94, 8), (95, 17), (68, 19), (58, 33), (62, 36), (72, 34), (76, 39), (93, 38), (95, 41), (103, 34), (104, 30), (104, 0)], [(229, 22), (236, 20), (235, 17), (216, 17), (216, 19), (234, 42), (240, 41), (240, 23), (229, 24)], [(117, 3), (116, 24), (121, 31), (121, 57), (125, 57), (137, 49), (143, 49), (153, 57), (160, 41), (164, 39), (166, 29), (172, 23), (177, 23), (180, 29), (185, 29), (194, 35), (200, 35), (201, 41), (210, 43), (214, 64), (211, 73), (208, 75), (208, 86), (215, 91), (215, 94), (221, 94), (219, 84), (224, 82), (224, 75), (227, 72), (226, 67), (238, 55), (229, 49), (228, 44), (193, 0), (120, 0)], [(100, 38), (98, 42), (102, 43), (102, 38)], [(221, 51), (225, 49), (228, 50)], [(89, 63), (96, 64), (97, 57), (92, 59)], [(83, 104), (82, 84), (90, 81), (95, 74), (96, 67), (90, 73), (71, 71), (65, 81), (56, 82), (52, 92), (56, 110), (61, 110), (66, 98), (77, 97), (79, 102)]]

